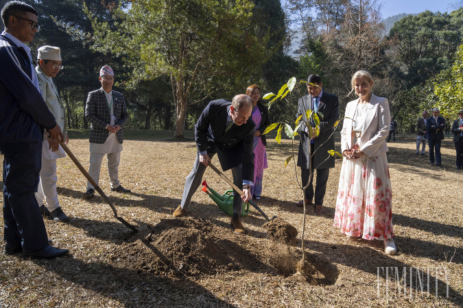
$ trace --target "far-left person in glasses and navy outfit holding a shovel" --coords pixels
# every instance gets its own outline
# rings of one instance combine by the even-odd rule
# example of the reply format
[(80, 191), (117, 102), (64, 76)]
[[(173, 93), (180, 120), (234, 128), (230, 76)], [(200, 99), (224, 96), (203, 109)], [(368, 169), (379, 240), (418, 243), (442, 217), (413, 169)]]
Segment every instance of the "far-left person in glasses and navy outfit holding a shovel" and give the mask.
[(3, 154), (3, 237), (6, 255), (54, 258), (69, 253), (49, 245), (47, 229), (34, 197), (42, 157), (43, 128), (63, 139), (38, 86), (30, 48), (38, 31), (38, 13), (19, 1), (1, 10), (0, 152)]

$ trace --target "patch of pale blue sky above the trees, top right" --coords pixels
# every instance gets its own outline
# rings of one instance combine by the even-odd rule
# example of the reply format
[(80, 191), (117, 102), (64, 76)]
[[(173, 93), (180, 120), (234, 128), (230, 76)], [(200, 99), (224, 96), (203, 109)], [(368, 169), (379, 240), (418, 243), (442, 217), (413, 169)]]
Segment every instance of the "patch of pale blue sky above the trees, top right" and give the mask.
[(462, 3), (462, 0), (379, 0), (383, 3), (381, 14), (388, 18), (401, 13), (416, 14), (430, 10), (431, 12), (451, 12), (454, 3)]

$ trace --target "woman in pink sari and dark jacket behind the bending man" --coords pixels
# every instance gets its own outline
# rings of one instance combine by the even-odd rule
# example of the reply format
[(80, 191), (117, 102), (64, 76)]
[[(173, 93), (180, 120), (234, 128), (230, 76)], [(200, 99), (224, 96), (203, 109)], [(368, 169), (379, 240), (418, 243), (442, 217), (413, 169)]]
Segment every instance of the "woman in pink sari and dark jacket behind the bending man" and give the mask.
[(268, 168), (267, 140), (263, 132), (270, 125), (268, 108), (261, 103), (261, 88), (252, 84), (246, 89), (246, 95), (252, 99), (252, 120), (256, 124), (254, 133), (254, 185), (251, 185), (251, 194), (256, 200), (261, 200), (263, 170)]

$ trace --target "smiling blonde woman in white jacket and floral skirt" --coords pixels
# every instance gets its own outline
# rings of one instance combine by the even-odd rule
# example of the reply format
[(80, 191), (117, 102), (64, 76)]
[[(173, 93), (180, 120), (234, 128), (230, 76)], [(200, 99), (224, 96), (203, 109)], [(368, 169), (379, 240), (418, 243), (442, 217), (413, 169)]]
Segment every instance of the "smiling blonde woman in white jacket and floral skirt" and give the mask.
[(372, 94), (370, 73), (359, 70), (351, 80), (359, 99), (346, 106), (341, 131), (342, 161), (334, 226), (348, 238), (383, 240), (385, 253), (394, 255), (392, 192), (389, 178), (388, 99)]

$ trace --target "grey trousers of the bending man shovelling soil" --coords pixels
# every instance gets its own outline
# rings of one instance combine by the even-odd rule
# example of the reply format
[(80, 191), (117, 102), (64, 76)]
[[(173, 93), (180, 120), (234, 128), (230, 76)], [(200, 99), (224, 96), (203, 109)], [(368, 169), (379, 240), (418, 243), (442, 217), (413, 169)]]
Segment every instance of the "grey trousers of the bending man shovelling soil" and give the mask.
[[(209, 157), (214, 156), (215, 153), (208, 153)], [(202, 182), (202, 176), (204, 175), (204, 171), (206, 171), (206, 166), (200, 163), (200, 157), (196, 154), (195, 163), (193, 164), (193, 169), (191, 170), (190, 174), (185, 181), (185, 188), (183, 189), (183, 196), (182, 196), (182, 209), (186, 209), (190, 204), (191, 197), (196, 192), (198, 187), (200, 187)], [(243, 166), (239, 164), (235, 168), (232, 168), (232, 175), (233, 175), (233, 183), (238, 186), (239, 189), (243, 189)], [(243, 199), (241, 196), (233, 190), (233, 212), (235, 214), (241, 214), (243, 210)]]

